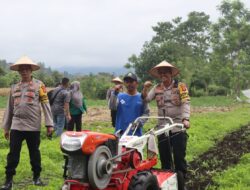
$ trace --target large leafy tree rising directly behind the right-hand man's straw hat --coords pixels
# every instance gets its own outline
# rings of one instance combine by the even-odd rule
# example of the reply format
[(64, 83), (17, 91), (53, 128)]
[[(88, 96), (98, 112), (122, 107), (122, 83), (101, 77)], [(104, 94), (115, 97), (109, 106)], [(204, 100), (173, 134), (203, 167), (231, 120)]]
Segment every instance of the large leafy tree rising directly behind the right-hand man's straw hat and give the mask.
[(191, 12), (184, 22), (180, 17), (172, 22), (160, 22), (153, 27), (156, 35), (145, 42), (140, 55), (132, 55), (125, 66), (134, 68), (145, 81), (152, 79), (145, 71), (166, 60), (176, 65), (181, 70), (180, 78), (190, 83), (193, 73), (207, 63), (210, 24), (209, 16), (203, 12)]

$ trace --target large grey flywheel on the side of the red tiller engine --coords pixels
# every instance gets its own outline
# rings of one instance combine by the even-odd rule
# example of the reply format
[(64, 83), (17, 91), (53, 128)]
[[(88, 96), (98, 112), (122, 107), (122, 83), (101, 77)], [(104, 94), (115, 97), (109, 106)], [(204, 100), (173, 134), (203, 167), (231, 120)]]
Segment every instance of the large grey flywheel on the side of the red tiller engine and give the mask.
[(109, 161), (111, 157), (111, 152), (107, 146), (99, 146), (90, 156), (88, 178), (92, 188), (104, 189), (107, 187), (113, 168), (112, 163)]

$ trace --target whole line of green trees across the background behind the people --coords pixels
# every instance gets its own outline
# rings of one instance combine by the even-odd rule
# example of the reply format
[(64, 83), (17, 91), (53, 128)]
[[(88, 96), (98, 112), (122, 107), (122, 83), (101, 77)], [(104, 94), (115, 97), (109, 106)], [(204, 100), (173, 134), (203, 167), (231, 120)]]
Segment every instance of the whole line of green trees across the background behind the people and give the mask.
[[(194, 11), (186, 20), (176, 17), (157, 23), (152, 27), (155, 35), (144, 43), (139, 55), (128, 58), (125, 67), (133, 69), (142, 82), (155, 81), (147, 71), (166, 60), (179, 68), (178, 80), (188, 85), (192, 96), (239, 96), (250, 87), (250, 11), (239, 0), (224, 0), (217, 8), (220, 16), (215, 22), (206, 13)], [(0, 87), (19, 80), (16, 72), (9, 72), (9, 64), (0, 60)], [(39, 65), (34, 77), (47, 86), (66, 76), (81, 82), (87, 98), (104, 99), (114, 77), (112, 73), (73, 76)]]

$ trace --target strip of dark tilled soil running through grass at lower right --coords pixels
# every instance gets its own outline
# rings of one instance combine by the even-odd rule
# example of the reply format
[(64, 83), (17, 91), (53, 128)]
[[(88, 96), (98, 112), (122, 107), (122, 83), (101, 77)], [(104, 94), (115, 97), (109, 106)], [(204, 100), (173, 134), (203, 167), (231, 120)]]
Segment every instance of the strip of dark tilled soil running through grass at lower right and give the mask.
[(240, 157), (249, 152), (250, 126), (244, 126), (189, 163), (188, 189), (204, 190), (211, 184), (218, 186), (212, 181), (214, 174), (236, 165)]

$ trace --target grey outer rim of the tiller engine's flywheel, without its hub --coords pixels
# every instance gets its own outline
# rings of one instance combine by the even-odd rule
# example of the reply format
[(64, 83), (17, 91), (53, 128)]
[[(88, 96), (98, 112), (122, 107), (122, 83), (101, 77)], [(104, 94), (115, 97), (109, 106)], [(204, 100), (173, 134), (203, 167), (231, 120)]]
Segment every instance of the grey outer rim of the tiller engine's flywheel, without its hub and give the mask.
[(93, 189), (104, 189), (107, 187), (111, 174), (105, 174), (100, 178), (96, 172), (97, 162), (100, 157), (105, 157), (105, 159), (110, 159), (112, 154), (107, 146), (99, 146), (95, 152), (90, 156), (88, 163), (88, 178), (89, 183)]

